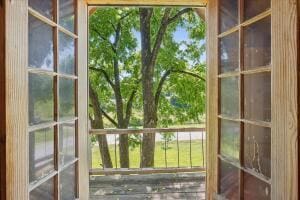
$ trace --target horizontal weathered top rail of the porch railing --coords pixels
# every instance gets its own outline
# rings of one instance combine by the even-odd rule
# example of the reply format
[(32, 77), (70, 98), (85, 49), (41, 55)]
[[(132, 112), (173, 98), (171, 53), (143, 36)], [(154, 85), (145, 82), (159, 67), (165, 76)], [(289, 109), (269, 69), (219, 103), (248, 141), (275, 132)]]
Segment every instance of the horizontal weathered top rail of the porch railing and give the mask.
[(143, 133), (170, 133), (170, 132), (205, 132), (205, 128), (144, 128), (144, 129), (92, 129), (92, 135), (107, 134), (143, 134)]

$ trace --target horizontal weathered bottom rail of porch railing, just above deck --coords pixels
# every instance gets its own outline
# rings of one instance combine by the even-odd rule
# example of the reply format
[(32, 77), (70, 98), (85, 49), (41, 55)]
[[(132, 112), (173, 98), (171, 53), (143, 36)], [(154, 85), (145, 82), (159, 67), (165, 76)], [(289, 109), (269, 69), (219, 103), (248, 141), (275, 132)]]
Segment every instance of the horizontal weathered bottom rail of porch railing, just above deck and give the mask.
[(204, 167), (193, 167), (193, 168), (136, 168), (136, 169), (91, 169), (90, 175), (130, 175), (130, 174), (155, 174), (155, 173), (180, 173), (180, 172), (204, 172)]

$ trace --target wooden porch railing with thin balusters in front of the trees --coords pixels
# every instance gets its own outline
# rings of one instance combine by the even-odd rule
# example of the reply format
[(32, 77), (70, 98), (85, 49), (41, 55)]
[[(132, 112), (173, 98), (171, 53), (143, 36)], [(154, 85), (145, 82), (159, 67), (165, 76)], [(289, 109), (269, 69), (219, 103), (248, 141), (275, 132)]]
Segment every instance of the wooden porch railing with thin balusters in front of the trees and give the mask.
[[(164, 166), (159, 166), (155, 168), (142, 168), (141, 166), (131, 167), (131, 168), (118, 167), (119, 164), (118, 164), (117, 154), (119, 152), (119, 148), (118, 148), (119, 135), (122, 134), (138, 135), (140, 140), (140, 143), (138, 145), (139, 153), (140, 153), (139, 156), (141, 156), (143, 134), (146, 133), (156, 134), (156, 145), (160, 144), (162, 150), (164, 151), (164, 155), (163, 155)], [(162, 138), (162, 136), (166, 133), (172, 133), (172, 141)], [(178, 172), (205, 171), (205, 141), (206, 141), (205, 128), (91, 129), (90, 135), (91, 136), (106, 135), (107, 137), (110, 137), (110, 139), (108, 138), (108, 142), (110, 143), (109, 146), (110, 146), (111, 153), (114, 156), (113, 168), (105, 168), (103, 164), (102, 166), (99, 165), (99, 167), (93, 168), (92, 166), (93, 150), (91, 148), (90, 175), (152, 174), (152, 173), (178, 173)], [(161, 136), (161, 138), (159, 138), (159, 136)], [(183, 144), (185, 148), (182, 150), (181, 147)], [(177, 152), (176, 156), (174, 156), (174, 154), (168, 155), (170, 150), (169, 145), (172, 145), (172, 148), (176, 149)], [(183, 165), (181, 162), (181, 155), (183, 154), (185, 155), (188, 154), (188, 158), (185, 159), (185, 165)], [(101, 155), (99, 158), (100, 161), (103, 160), (102, 156), (103, 155)], [(173, 160), (173, 164), (171, 166), (168, 165), (170, 159)], [(174, 164), (174, 159), (177, 161), (176, 164)], [(194, 162), (197, 161), (197, 164), (194, 164), (193, 161)]]

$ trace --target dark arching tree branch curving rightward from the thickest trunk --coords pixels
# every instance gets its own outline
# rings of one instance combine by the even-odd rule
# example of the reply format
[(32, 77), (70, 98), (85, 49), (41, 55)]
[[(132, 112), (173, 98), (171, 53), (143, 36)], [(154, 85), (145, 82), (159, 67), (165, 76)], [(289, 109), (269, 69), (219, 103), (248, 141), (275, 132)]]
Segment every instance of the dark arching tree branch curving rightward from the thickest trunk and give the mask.
[(197, 78), (203, 82), (205, 82), (205, 79), (203, 77), (201, 77), (199, 74), (196, 74), (194, 72), (190, 72), (190, 71), (185, 71), (185, 70), (172, 70), (172, 69), (169, 69), (167, 70), (163, 76), (161, 77), (159, 83), (158, 83), (158, 87), (157, 87), (157, 90), (156, 90), (156, 93), (155, 93), (155, 106), (157, 108), (158, 106), (158, 103), (159, 103), (159, 98), (160, 98), (160, 95), (161, 95), (161, 92), (162, 92), (162, 89), (163, 89), (163, 86), (164, 86), (164, 83), (165, 81), (167, 80), (168, 76), (171, 74), (171, 73), (181, 73), (181, 74), (186, 74), (186, 75), (189, 75), (189, 76), (192, 76), (194, 78)]

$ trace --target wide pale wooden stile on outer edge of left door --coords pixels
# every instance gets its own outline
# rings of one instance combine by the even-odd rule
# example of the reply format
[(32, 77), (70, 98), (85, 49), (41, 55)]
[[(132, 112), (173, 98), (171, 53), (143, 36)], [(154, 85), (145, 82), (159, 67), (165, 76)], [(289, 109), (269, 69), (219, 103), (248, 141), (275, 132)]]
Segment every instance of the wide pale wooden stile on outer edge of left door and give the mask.
[(28, 199), (27, 0), (5, 0), (6, 199)]

